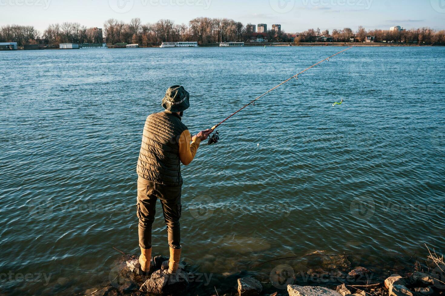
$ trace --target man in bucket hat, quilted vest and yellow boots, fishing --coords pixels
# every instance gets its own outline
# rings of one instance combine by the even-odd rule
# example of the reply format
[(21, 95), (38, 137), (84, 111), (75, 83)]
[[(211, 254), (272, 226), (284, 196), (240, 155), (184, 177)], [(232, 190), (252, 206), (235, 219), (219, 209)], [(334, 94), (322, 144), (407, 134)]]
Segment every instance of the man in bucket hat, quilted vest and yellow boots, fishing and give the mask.
[[(150, 271), (151, 229), (154, 222), (156, 201), (161, 201), (167, 225), (170, 246), (169, 273), (178, 270), (181, 258), (182, 177), (179, 162), (188, 165), (194, 158), (202, 140), (213, 130), (202, 130), (193, 138), (182, 123), (183, 112), (190, 107), (190, 95), (179, 85), (166, 91), (162, 99), (165, 111), (147, 117), (142, 134), (142, 145), (138, 159), (138, 234), (142, 272)], [(190, 143), (191, 142), (191, 143)]]

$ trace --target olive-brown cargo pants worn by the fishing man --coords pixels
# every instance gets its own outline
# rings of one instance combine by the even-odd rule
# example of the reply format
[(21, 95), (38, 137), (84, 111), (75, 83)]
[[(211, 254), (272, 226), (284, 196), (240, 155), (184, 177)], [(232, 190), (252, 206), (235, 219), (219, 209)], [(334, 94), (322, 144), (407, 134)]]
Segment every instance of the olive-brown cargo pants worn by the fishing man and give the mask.
[(167, 225), (168, 244), (173, 249), (181, 249), (181, 230), (179, 228), (181, 187), (157, 184), (141, 177), (138, 178), (137, 215), (139, 218), (139, 246), (141, 248), (151, 248), (151, 227), (154, 222), (156, 201), (159, 198)]

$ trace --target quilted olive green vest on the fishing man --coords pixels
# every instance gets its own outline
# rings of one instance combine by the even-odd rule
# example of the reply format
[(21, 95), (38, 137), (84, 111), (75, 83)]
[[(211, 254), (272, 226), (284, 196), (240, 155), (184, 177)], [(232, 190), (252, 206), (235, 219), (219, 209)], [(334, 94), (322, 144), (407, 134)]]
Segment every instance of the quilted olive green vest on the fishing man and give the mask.
[(182, 185), (179, 137), (187, 130), (181, 116), (170, 111), (147, 117), (136, 171), (139, 177), (168, 186)]

